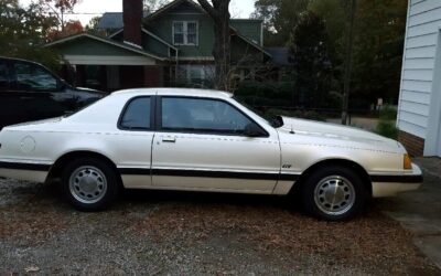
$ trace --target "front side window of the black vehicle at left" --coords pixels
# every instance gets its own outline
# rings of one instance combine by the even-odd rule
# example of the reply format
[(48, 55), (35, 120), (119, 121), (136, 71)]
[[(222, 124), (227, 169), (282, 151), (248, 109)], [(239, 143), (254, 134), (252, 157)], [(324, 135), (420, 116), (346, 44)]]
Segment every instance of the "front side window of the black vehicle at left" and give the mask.
[(56, 78), (39, 65), (14, 63), (17, 88), (22, 91), (56, 91)]

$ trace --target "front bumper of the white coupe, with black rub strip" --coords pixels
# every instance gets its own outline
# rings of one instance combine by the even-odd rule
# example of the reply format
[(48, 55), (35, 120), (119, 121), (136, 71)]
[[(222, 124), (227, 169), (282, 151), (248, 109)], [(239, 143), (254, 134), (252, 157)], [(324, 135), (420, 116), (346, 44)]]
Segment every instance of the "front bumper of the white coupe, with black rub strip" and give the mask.
[(400, 176), (372, 176), (373, 197), (395, 197), (397, 193), (413, 191), (422, 184), (421, 169), (412, 163), (412, 172)]

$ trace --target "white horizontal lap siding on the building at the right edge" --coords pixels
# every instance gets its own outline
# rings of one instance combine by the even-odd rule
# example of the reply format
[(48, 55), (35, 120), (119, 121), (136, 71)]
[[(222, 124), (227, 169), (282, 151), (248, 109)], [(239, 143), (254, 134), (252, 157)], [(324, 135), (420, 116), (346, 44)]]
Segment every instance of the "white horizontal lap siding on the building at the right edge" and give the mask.
[(441, 0), (410, 0), (397, 125), (421, 138), (430, 121), (440, 28)]

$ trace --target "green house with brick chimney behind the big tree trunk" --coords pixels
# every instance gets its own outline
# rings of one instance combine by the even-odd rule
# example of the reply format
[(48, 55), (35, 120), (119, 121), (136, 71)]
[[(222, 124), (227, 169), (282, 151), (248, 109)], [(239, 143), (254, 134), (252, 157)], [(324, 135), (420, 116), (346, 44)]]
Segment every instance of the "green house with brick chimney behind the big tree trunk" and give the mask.
[[(107, 36), (80, 33), (46, 44), (75, 70), (76, 85), (104, 91), (213, 84), (213, 21), (192, 0), (142, 12), (142, 0), (122, 0), (122, 13), (105, 13)], [(263, 49), (262, 21), (230, 21), (232, 61), (238, 71), (271, 59)]]

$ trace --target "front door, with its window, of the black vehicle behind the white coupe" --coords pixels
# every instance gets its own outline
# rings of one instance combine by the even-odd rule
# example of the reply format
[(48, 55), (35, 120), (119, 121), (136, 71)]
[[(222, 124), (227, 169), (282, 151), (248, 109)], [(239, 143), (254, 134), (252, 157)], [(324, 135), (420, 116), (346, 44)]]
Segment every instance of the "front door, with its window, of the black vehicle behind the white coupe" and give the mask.
[(37, 120), (64, 115), (71, 110), (73, 94), (64, 93), (61, 82), (43, 66), (24, 61), (12, 65), (15, 93), (25, 108), (25, 120)]

